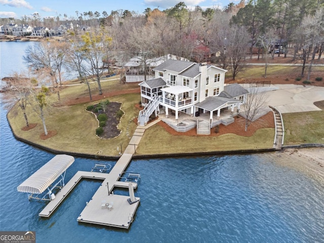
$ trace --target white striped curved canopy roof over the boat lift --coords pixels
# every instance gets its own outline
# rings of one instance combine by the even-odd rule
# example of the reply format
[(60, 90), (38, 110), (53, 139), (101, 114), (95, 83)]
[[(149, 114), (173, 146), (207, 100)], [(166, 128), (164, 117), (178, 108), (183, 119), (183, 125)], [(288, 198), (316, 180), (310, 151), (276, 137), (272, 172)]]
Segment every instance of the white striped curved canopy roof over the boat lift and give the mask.
[(43, 193), (73, 162), (73, 156), (66, 154), (56, 155), (21, 183), (17, 190), (33, 194)]

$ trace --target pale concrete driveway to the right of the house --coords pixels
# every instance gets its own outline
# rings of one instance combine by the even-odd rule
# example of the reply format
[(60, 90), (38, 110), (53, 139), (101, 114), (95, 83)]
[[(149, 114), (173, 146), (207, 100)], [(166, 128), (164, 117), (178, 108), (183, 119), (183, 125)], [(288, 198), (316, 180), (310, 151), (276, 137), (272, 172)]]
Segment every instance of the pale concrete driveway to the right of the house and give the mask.
[(315, 101), (324, 100), (324, 87), (294, 84), (275, 85), (279, 89), (267, 92), (267, 105), (281, 113), (321, 111)]

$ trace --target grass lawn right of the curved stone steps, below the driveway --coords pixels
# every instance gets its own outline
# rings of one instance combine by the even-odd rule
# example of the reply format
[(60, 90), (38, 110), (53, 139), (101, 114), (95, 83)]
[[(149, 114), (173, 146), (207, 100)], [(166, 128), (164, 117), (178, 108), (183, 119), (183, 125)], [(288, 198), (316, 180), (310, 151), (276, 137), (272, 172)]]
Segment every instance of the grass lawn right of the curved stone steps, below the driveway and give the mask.
[(324, 143), (324, 111), (282, 114), (285, 145)]

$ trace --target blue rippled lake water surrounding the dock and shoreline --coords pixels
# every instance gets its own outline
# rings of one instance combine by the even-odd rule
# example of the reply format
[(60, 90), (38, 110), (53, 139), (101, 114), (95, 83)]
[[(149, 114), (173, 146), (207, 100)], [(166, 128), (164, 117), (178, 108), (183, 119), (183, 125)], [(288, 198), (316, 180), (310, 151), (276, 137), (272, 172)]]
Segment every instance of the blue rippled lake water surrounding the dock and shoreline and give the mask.
[[(26, 45), (9, 44), (7, 52), (0, 43), (2, 77), (21, 63), (11, 58), (19, 59)], [(276, 153), (133, 160), (128, 170), (141, 173), (135, 190), (141, 202), (128, 230), (76, 221), (100, 185), (92, 180), (79, 183), (52, 217), (40, 218), (46, 203), (28, 201), (17, 186), (54, 154), (17, 141), (6, 113), (1, 106), (1, 231), (36, 231), (36, 242), (324, 241), (323, 177), (285, 166), (280, 161), (289, 157)], [(96, 161), (75, 158), (65, 182)]]

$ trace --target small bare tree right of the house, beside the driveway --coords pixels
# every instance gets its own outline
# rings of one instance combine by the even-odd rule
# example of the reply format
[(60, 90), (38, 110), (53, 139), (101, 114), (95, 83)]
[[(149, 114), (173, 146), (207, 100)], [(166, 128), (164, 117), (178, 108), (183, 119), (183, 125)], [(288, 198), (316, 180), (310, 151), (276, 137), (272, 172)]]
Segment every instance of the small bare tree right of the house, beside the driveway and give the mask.
[(266, 112), (267, 95), (265, 92), (259, 92), (256, 84), (250, 84), (247, 89), (249, 93), (246, 95), (241, 115), (245, 118), (245, 131), (248, 130), (250, 124), (257, 120)]

